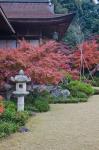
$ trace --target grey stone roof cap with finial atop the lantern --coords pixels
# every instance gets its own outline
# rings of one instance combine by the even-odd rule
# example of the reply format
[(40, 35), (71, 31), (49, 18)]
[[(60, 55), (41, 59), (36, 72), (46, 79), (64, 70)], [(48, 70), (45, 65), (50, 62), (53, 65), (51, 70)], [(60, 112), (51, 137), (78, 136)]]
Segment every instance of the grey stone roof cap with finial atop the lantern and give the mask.
[(11, 81), (17, 82), (17, 83), (24, 83), (24, 82), (30, 82), (31, 78), (28, 78), (23, 70), (19, 71), (19, 74), (16, 75), (15, 77), (11, 77)]

